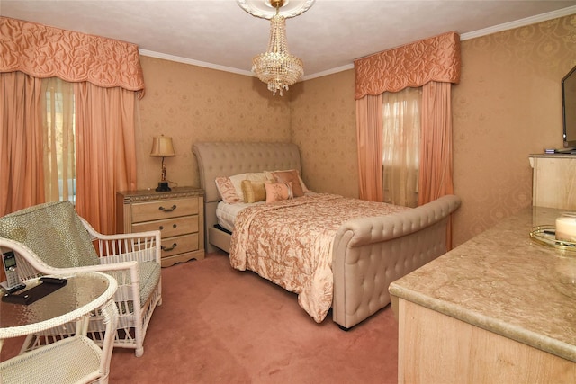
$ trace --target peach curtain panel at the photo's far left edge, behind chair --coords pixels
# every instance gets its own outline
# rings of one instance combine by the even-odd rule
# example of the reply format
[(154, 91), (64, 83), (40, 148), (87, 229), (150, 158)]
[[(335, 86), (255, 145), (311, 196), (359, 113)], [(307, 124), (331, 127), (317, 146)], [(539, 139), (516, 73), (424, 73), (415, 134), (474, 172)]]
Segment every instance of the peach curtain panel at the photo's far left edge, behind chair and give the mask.
[(0, 73), (0, 216), (44, 202), (41, 81)]

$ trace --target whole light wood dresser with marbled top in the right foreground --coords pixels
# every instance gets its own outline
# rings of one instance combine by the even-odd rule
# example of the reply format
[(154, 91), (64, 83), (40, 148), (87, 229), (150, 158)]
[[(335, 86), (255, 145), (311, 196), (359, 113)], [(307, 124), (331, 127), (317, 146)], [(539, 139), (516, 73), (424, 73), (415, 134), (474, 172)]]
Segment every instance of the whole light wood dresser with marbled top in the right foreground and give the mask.
[(576, 250), (531, 240), (563, 209), (528, 207), (390, 285), (398, 382), (576, 378)]

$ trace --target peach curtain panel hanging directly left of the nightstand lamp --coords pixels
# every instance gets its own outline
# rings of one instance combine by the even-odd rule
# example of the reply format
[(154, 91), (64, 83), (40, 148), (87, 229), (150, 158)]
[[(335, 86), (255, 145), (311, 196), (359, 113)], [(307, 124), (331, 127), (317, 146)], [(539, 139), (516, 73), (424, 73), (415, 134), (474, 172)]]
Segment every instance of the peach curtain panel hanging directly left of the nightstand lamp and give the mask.
[(76, 132), (76, 211), (112, 234), (116, 191), (136, 189), (136, 98), (90, 83), (76, 83), (74, 93), (76, 126), (82, 127)]

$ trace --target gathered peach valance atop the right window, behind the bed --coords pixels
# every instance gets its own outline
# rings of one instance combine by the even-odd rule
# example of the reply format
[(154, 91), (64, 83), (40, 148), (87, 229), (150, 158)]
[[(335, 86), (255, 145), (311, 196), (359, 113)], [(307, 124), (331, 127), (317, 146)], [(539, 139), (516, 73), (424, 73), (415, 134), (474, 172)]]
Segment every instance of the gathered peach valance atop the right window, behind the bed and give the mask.
[(460, 64), (460, 35), (455, 32), (358, 58), (354, 62), (355, 98), (398, 92), (430, 81), (457, 84)]

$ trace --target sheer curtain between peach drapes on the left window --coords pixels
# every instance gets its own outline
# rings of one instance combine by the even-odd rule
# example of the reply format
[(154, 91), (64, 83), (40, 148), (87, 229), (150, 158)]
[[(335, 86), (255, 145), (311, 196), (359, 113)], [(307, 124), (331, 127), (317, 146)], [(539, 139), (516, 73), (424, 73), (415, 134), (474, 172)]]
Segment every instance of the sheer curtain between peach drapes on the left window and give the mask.
[(76, 200), (74, 85), (42, 80), (44, 191), (46, 201)]

